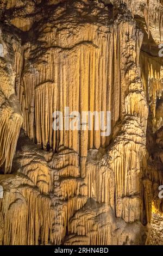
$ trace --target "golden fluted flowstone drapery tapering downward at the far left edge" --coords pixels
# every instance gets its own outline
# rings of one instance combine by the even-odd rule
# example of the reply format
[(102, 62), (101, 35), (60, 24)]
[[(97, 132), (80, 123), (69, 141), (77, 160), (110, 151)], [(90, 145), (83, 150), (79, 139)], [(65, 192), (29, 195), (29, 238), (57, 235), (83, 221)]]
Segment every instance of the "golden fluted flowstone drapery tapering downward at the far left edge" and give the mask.
[(22, 113), (15, 95), (14, 63), (10, 62), (13, 52), (8, 52), (14, 47), (14, 39), (10, 36), (3, 40), (0, 28), (1, 56), (0, 56), (0, 167), (4, 173), (11, 172), (12, 159), (15, 154), (17, 138), (22, 125)]

